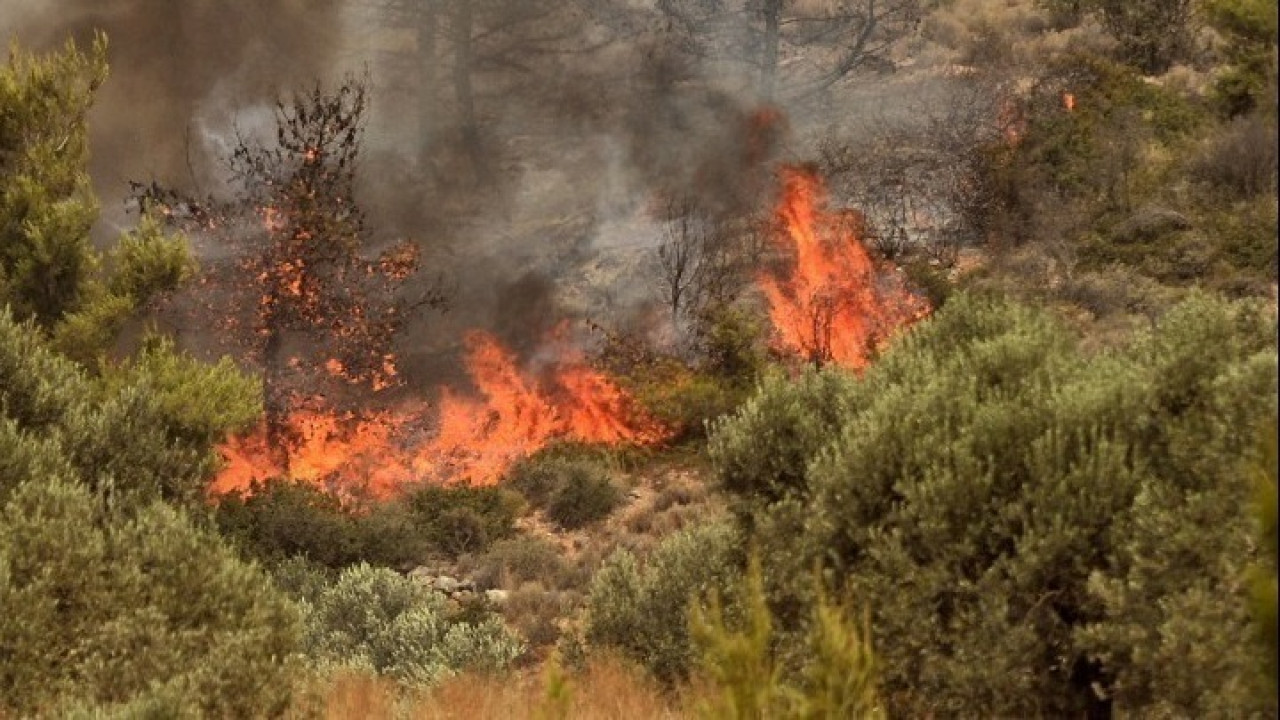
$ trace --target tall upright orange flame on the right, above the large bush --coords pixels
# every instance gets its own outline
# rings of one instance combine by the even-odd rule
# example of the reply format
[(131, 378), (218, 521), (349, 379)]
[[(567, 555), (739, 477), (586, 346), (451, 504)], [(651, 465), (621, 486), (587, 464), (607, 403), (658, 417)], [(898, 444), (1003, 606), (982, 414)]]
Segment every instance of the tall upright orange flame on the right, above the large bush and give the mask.
[(788, 270), (764, 274), (760, 288), (781, 350), (817, 364), (863, 368), (870, 354), (928, 305), (887, 268), (877, 266), (859, 240), (860, 217), (827, 209), (826, 188), (813, 172), (787, 168), (777, 208), (780, 250)]

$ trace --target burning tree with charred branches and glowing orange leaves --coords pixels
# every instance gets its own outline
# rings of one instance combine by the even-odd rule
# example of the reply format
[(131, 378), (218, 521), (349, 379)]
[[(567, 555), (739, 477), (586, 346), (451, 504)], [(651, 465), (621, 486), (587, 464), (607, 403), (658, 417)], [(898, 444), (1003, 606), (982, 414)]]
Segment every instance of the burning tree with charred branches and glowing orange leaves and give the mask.
[[(369, 259), (365, 214), (353, 197), (366, 109), (365, 85), (353, 79), (278, 102), (273, 143), (237, 138), (229, 201), (136, 186), (143, 208), (237, 259), (215, 266), (204, 286), (229, 309), (221, 327), (238, 355), (262, 369), (268, 446), (282, 459), (296, 439), (288, 416), (300, 397), (323, 387), (394, 384), (402, 323), (417, 307), (444, 304), (439, 283), (404, 292), (419, 269), (412, 242)], [(205, 309), (219, 310), (212, 301)]]

